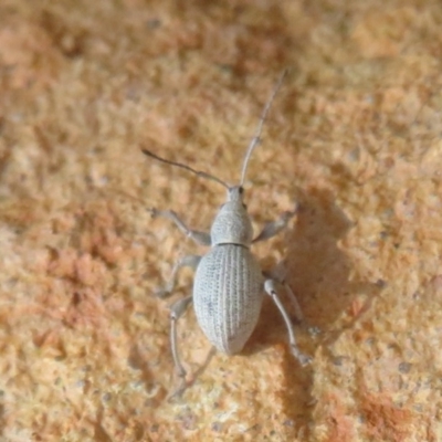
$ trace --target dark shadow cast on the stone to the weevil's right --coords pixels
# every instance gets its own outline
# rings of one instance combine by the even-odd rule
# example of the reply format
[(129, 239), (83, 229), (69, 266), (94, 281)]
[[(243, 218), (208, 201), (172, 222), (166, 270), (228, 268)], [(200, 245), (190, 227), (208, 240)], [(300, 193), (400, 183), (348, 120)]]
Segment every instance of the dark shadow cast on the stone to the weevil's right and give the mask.
[[(347, 328), (351, 327), (358, 315), (355, 314), (344, 326), (336, 329), (335, 323), (343, 313), (351, 311), (356, 296), (365, 295), (367, 305), (359, 309), (365, 312), (372, 298), (381, 291), (381, 284), (367, 281), (350, 281), (350, 259), (339, 249), (339, 241), (346, 238), (352, 222), (335, 203), (334, 196), (322, 189), (308, 192), (297, 191), (298, 212), (295, 228), (282, 235), (288, 244), (284, 257), (286, 282), (295, 293), (304, 314), (303, 326), (296, 326), (295, 308), (290, 297), (281, 287), (281, 298), (286, 306), (293, 323), (301, 351), (314, 356), (315, 348), (322, 346), (336, 364), (336, 357), (328, 351), (328, 346)], [(364, 308), (366, 307), (366, 308)], [(315, 339), (306, 329), (316, 329)], [(335, 329), (334, 329), (335, 328)], [(264, 297), (262, 314), (243, 354), (253, 354), (263, 347), (284, 345), (283, 371), (286, 377), (284, 393), (285, 410), (290, 424), (298, 428), (308, 418), (312, 403), (311, 386), (313, 366), (301, 367), (288, 351), (288, 335), (280, 312), (270, 296)]]

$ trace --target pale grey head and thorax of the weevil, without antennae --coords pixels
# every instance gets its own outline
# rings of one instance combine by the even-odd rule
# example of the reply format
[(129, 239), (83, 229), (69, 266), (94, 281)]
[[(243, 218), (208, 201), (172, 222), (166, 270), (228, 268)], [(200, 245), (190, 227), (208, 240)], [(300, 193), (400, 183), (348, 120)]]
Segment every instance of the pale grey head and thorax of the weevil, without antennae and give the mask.
[(228, 200), (221, 206), (210, 230), (212, 246), (238, 244), (250, 248), (253, 228), (243, 202), (243, 192), (242, 186), (228, 189)]

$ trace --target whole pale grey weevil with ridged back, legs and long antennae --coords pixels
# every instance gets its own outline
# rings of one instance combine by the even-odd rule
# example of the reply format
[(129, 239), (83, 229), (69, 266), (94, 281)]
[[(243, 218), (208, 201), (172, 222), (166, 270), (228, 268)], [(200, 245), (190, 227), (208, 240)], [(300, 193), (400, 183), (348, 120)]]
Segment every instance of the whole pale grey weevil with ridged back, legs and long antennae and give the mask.
[(244, 347), (254, 330), (263, 302), (263, 288), (276, 304), (288, 332), (288, 341), (292, 354), (302, 366), (311, 361), (311, 357), (302, 354), (296, 345), (295, 334), (290, 316), (282, 304), (275, 288), (280, 282), (287, 290), (295, 305), (296, 316), (301, 320), (302, 313), (296, 297), (284, 278), (277, 278), (272, 272), (264, 273), (252, 254), (253, 243), (267, 240), (283, 230), (296, 209), (284, 212), (278, 220), (264, 225), (261, 233), (253, 238), (252, 223), (243, 202), (243, 182), (253, 149), (261, 141), (262, 127), (271, 104), (281, 87), (285, 72), (281, 75), (275, 88), (262, 112), (255, 136), (252, 138), (242, 166), (240, 185), (229, 186), (219, 178), (189, 166), (164, 159), (151, 151), (141, 148), (141, 151), (158, 161), (183, 168), (199, 177), (208, 178), (227, 189), (227, 202), (221, 206), (214, 218), (210, 233), (189, 229), (171, 210), (159, 211), (150, 209), (152, 217), (164, 217), (172, 222), (190, 239), (200, 245), (211, 246), (210, 251), (201, 255), (181, 257), (173, 266), (169, 283), (157, 295), (166, 297), (171, 294), (177, 274), (182, 267), (192, 267), (196, 271), (193, 295), (177, 301), (171, 305), (170, 343), (175, 367), (179, 376), (185, 379), (186, 370), (182, 367), (177, 344), (177, 322), (193, 301), (197, 320), (211, 341), (220, 351), (228, 355), (238, 354)]

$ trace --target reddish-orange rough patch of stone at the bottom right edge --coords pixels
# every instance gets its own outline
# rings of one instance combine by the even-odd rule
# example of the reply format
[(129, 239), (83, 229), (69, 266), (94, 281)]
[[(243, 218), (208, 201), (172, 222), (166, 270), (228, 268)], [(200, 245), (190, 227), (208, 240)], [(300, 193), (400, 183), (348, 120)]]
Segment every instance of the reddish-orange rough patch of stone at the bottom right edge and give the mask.
[(375, 440), (401, 442), (411, 433), (411, 411), (394, 406), (388, 393), (366, 393), (362, 397), (361, 412), (367, 435)]

